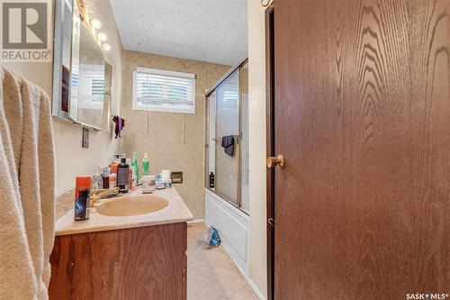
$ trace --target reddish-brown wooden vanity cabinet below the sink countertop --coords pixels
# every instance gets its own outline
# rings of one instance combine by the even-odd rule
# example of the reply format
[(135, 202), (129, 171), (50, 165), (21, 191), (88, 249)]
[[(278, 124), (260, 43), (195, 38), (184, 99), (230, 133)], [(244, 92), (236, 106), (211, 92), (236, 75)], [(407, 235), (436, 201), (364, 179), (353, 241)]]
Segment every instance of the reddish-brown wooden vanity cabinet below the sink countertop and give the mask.
[(49, 298), (186, 299), (186, 223), (57, 236)]

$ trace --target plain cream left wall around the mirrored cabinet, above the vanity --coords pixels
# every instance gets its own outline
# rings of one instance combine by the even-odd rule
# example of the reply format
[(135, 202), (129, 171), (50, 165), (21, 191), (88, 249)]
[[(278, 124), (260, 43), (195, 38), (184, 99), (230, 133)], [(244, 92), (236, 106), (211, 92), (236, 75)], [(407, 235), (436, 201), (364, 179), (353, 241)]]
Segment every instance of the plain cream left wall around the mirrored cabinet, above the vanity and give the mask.
[[(122, 46), (109, 1), (94, 0), (94, 16), (103, 23), (102, 31), (108, 35), (112, 50), (106, 53), (113, 65), (112, 114), (120, 113)], [(52, 29), (53, 30), (53, 29)], [(53, 32), (51, 32), (53, 33)], [(17, 76), (27, 78), (41, 86), (49, 95), (52, 88), (53, 63), (3, 63), (2, 66)], [(89, 148), (81, 147), (82, 127), (53, 117), (56, 156), (56, 194), (75, 186), (76, 175), (91, 174), (97, 164), (105, 164), (109, 154), (117, 152), (119, 143), (110, 132), (90, 131)]]

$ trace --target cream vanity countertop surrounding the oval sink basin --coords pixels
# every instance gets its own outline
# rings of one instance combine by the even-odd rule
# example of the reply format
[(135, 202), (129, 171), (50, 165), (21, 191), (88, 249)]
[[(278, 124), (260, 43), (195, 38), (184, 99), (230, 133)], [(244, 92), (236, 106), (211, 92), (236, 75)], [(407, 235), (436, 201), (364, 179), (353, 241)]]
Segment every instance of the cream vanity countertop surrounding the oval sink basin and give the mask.
[[(126, 195), (140, 195), (141, 189), (131, 191)], [(74, 210), (69, 210), (56, 222), (55, 235), (66, 235), (83, 232), (103, 232), (125, 228), (135, 228), (167, 223), (180, 223), (193, 220), (193, 214), (184, 204), (183, 199), (176, 192), (175, 187), (157, 190), (151, 195), (163, 196), (168, 205), (160, 211), (150, 214), (139, 214), (131, 216), (108, 216), (98, 214), (95, 207), (91, 207), (90, 217), (84, 221), (74, 221)], [(108, 201), (100, 200), (98, 203)], [(95, 204), (96, 205), (96, 204)]]

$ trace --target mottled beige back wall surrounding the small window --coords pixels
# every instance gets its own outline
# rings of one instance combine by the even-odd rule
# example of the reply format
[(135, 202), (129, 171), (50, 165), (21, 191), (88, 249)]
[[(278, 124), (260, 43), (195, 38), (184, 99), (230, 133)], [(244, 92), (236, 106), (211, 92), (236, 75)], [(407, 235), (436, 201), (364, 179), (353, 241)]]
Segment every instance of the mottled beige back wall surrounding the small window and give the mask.
[[(132, 73), (138, 67), (195, 74), (195, 114), (183, 116), (132, 110)], [(121, 115), (125, 119), (125, 128), (121, 152), (129, 156), (132, 151), (138, 151), (140, 162), (144, 152), (148, 151), (150, 174), (157, 174), (163, 168), (183, 171), (184, 182), (176, 185), (176, 189), (196, 219), (204, 217), (204, 92), (228, 69), (229, 66), (202, 61), (123, 51)], [(182, 141), (183, 118), (185, 143)]]

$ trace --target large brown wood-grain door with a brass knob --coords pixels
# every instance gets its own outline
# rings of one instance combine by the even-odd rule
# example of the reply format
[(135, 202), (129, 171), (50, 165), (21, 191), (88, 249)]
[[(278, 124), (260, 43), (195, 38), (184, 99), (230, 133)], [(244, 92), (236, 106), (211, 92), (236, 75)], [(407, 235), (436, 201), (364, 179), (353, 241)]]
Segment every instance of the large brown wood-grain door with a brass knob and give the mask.
[(275, 12), (275, 299), (450, 294), (450, 1)]

